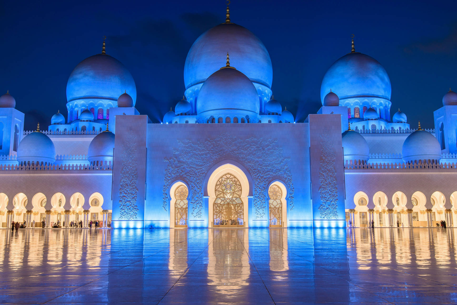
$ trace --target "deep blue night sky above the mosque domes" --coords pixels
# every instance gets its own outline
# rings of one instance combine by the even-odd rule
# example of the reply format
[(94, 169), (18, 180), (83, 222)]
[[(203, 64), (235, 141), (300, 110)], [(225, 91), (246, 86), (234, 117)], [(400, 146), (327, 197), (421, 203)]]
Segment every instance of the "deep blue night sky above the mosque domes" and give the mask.
[[(433, 111), (457, 90), (455, 1), (232, 0), (231, 20), (265, 44), (272, 90), (298, 121), (320, 107), (325, 71), (351, 50), (377, 59), (392, 82), (393, 114), (433, 127)], [(225, 21), (225, 2), (1, 1), (0, 92), (16, 98), (26, 129), (65, 112), (66, 83), (83, 59), (106, 52), (127, 66), (136, 107), (158, 122), (184, 92), (183, 68), (194, 40)], [(42, 126), (43, 126), (42, 125)]]

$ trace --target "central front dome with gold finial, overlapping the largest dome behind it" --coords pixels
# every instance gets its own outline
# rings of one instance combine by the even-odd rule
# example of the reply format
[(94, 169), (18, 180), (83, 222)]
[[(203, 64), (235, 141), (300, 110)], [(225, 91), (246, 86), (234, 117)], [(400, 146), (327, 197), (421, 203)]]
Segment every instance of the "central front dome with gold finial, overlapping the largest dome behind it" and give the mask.
[(256, 123), (260, 118), (259, 111), (260, 102), (255, 86), (246, 75), (230, 66), (227, 54), (226, 66), (210, 75), (200, 89), (197, 120), (236, 115), (250, 117), (251, 123)]

